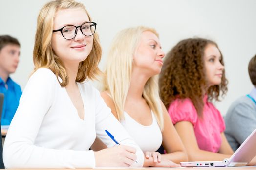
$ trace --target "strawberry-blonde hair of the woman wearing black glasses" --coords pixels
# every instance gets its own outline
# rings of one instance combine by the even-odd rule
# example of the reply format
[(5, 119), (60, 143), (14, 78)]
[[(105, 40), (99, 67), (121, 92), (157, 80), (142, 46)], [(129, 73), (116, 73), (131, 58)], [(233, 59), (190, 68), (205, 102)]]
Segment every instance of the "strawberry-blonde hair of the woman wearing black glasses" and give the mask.
[[(52, 30), (55, 14), (58, 10), (82, 8), (91, 21), (91, 17), (85, 9), (84, 4), (78, 3), (74, 0), (54, 0), (46, 3), (40, 10), (37, 18), (37, 31), (35, 36), (35, 46), (33, 51), (34, 72), (39, 68), (49, 68), (54, 72), (56, 77), (60, 77), (62, 82), (59, 81), (61, 86), (68, 84), (68, 76), (66, 69), (51, 47)], [(85, 59), (80, 62), (78, 73), (76, 77), (77, 82), (83, 82), (85, 79), (95, 79), (100, 73), (98, 64), (101, 59), (101, 46), (97, 32), (93, 35), (93, 47)]]

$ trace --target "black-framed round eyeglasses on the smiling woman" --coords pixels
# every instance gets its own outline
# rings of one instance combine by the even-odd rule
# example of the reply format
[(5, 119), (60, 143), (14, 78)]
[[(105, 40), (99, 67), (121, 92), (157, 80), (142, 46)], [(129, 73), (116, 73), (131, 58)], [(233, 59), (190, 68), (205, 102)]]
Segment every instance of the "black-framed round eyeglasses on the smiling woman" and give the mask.
[(59, 30), (53, 30), (52, 32), (60, 31), (65, 39), (70, 40), (76, 37), (78, 28), (80, 28), (82, 34), (85, 36), (93, 35), (96, 30), (96, 25), (95, 22), (85, 22), (81, 26), (67, 25)]

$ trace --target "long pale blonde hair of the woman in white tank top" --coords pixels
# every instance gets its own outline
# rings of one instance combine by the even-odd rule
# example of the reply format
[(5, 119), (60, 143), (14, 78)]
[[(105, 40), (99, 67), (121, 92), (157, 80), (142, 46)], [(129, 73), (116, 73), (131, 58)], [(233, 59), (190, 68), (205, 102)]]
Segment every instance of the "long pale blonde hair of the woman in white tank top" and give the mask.
[[(110, 45), (107, 57), (104, 90), (108, 90), (113, 98), (118, 120), (124, 119), (124, 106), (131, 82), (132, 59), (138, 47), (141, 34), (150, 31), (158, 37), (158, 33), (147, 27), (128, 28), (119, 32)], [(147, 81), (143, 97), (156, 116), (157, 123), (163, 130), (163, 111), (158, 92), (158, 76)]]

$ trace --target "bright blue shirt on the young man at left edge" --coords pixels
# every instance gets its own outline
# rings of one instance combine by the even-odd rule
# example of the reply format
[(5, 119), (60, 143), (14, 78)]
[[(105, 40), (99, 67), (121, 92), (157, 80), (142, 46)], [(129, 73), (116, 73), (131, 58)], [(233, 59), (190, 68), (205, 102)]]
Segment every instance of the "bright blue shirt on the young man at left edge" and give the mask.
[(20, 97), (22, 94), (21, 87), (8, 77), (5, 87), (5, 82), (0, 78), (0, 93), (4, 94), (1, 125), (10, 125), (13, 116), (19, 106)]

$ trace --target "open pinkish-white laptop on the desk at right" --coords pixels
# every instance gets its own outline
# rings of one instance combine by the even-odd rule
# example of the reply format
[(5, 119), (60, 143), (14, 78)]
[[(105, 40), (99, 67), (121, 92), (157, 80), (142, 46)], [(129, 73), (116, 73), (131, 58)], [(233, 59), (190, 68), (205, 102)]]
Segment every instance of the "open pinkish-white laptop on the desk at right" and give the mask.
[(246, 138), (235, 153), (223, 161), (180, 162), (183, 167), (233, 167), (246, 166), (256, 156), (256, 129)]

